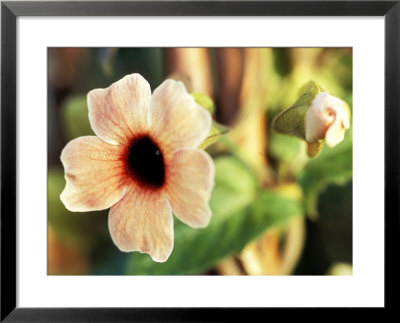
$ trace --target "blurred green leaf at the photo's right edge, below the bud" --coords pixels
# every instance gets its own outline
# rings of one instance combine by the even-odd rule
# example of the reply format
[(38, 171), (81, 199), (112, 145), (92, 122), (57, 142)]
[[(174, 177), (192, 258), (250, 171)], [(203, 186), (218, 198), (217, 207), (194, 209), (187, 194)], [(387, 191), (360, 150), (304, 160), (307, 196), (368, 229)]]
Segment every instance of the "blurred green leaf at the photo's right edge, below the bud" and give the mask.
[(310, 160), (299, 174), (307, 214), (316, 219), (319, 194), (330, 184), (346, 184), (352, 176), (353, 145), (352, 131), (349, 130), (343, 142), (334, 148), (324, 149), (317, 158)]

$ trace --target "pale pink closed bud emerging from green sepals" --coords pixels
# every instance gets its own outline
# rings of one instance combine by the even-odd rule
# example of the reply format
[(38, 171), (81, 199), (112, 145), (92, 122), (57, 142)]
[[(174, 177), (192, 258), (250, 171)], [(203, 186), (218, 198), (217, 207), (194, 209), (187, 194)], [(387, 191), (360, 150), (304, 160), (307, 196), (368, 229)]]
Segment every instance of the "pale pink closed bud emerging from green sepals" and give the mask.
[(349, 118), (346, 103), (328, 92), (319, 93), (306, 113), (306, 140), (325, 140), (329, 147), (336, 146), (344, 139), (344, 133), (350, 127)]

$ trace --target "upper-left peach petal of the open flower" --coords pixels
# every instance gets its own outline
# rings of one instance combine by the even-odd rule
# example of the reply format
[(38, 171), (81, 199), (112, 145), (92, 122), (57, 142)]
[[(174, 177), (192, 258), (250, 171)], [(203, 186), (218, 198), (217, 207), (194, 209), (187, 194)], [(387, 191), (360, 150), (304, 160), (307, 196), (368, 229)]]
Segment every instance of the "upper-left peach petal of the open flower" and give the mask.
[(106, 89), (88, 93), (93, 131), (110, 144), (125, 143), (132, 134), (148, 129), (151, 90), (139, 74), (127, 75)]

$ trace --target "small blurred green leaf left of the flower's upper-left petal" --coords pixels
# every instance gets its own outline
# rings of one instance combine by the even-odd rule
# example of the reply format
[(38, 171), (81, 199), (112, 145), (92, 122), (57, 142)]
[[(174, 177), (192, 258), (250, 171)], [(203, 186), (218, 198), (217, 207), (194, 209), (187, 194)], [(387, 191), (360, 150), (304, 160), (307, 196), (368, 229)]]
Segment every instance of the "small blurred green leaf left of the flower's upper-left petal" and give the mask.
[(61, 107), (62, 125), (68, 140), (94, 135), (89, 123), (86, 95), (68, 97)]

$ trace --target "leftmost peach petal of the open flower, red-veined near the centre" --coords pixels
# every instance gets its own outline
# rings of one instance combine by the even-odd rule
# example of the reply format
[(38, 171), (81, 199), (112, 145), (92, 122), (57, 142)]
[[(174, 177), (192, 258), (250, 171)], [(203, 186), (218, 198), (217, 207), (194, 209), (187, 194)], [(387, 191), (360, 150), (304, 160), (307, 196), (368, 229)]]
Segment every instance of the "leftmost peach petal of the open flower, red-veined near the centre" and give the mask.
[(61, 193), (66, 208), (75, 212), (103, 210), (125, 192), (121, 148), (95, 136), (70, 141), (61, 153), (67, 185)]

